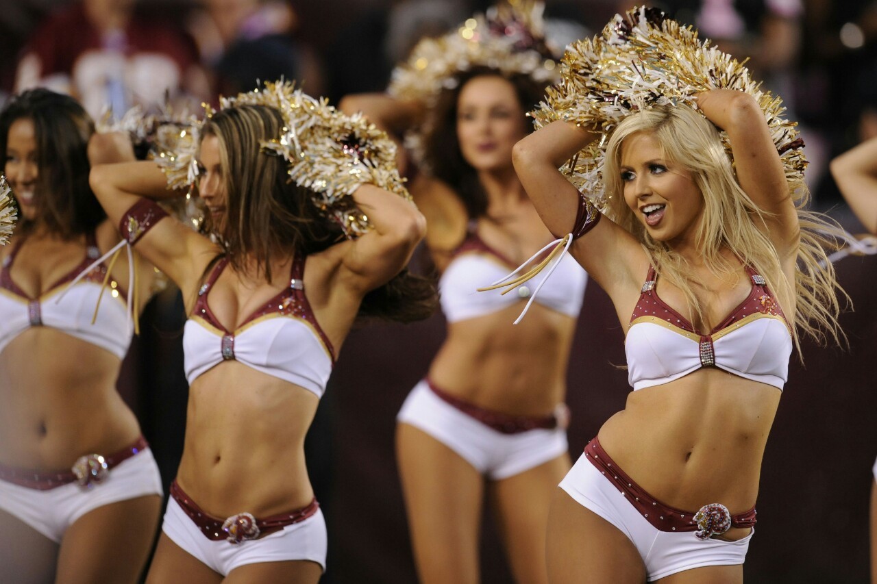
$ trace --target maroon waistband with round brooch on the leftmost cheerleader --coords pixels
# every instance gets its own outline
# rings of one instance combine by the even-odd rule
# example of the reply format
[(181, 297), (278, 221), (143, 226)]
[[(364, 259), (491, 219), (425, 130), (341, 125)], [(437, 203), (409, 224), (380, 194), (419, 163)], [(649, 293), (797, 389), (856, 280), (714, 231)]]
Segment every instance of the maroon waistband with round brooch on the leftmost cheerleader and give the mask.
[(70, 470), (54, 473), (0, 465), (0, 481), (38, 491), (47, 491), (71, 482), (78, 482), (82, 487), (90, 488), (103, 482), (113, 466), (118, 466), (123, 460), (130, 459), (134, 454), (148, 447), (146, 438), (141, 436), (132, 445), (125, 446), (109, 456), (86, 454), (79, 457)]

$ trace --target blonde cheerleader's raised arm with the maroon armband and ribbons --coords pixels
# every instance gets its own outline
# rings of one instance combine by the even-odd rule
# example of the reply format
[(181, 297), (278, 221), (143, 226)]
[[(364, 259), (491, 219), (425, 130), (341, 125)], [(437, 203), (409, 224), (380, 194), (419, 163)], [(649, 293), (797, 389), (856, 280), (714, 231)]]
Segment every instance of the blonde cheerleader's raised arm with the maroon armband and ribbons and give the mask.
[[(512, 151), (518, 178), (545, 226), (558, 237), (573, 229), (581, 205), (581, 194), (558, 168), (595, 137), (578, 125), (557, 121), (531, 133)], [(645, 276), (645, 252), (630, 233), (605, 217), (574, 241), (570, 253), (616, 301), (638, 288)]]

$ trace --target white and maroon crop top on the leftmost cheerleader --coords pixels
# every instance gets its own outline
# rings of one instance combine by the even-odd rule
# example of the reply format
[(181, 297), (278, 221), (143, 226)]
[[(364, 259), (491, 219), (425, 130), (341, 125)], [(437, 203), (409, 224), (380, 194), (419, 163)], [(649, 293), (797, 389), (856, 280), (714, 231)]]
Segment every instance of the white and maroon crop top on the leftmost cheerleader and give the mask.
[[(27, 296), (12, 281), (10, 270), (21, 245), (16, 246), (6, 256), (0, 269), (0, 322), (3, 323), (0, 326), (0, 353), (6, 345), (32, 326), (47, 326), (99, 346), (119, 359), (125, 357), (131, 343), (131, 334), (128, 330), (125, 295), (118, 285), (114, 288), (115, 295), (104, 294), (109, 297), (103, 300), (97, 311), (95, 324), (91, 324), (107, 267), (101, 263), (83, 274), (101, 255), (94, 233), (87, 236), (86, 245), (87, 251), (82, 262), (69, 274), (54, 282), (39, 298)], [(81, 274), (83, 275), (79, 281), (71, 288), (64, 289)], [(59, 297), (61, 292), (64, 294)]]

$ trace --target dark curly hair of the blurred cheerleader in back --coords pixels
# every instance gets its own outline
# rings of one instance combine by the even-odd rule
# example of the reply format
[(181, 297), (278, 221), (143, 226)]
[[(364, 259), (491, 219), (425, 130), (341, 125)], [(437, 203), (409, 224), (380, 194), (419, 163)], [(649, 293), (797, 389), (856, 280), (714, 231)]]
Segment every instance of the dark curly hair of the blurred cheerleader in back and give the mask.
[(515, 88), (517, 101), (524, 112), (532, 110), (545, 96), (545, 83), (536, 82), (529, 75), (504, 75), (497, 69), (473, 68), (456, 77), (453, 89), (444, 89), (436, 107), (426, 120), (424, 158), (433, 176), (451, 185), (457, 191), (470, 218), (487, 212), (487, 194), (478, 180), (478, 173), (469, 165), (460, 151), (457, 139), (457, 104), (460, 91), (475, 77), (502, 77)]

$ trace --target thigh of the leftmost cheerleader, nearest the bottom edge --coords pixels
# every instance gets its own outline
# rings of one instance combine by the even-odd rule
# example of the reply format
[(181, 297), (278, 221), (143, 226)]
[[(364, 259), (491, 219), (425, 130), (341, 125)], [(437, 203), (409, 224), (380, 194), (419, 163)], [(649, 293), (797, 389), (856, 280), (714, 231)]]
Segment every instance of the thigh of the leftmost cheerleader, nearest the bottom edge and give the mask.
[(152, 548), (159, 495), (113, 502), (77, 519), (64, 534), (58, 584), (137, 582)]

